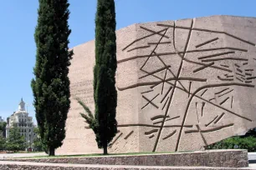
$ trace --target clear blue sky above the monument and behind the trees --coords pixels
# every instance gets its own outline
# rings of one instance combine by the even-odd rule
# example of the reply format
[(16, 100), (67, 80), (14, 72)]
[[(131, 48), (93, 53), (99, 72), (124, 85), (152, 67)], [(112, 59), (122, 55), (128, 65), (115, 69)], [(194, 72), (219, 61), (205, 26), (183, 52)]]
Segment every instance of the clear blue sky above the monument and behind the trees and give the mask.
[[(69, 47), (94, 39), (96, 0), (69, 0)], [(255, 0), (115, 0), (116, 29), (146, 23), (210, 15), (256, 17)], [(34, 28), (38, 0), (7, 0), (0, 10), (0, 116), (18, 108), (21, 97), (34, 117), (30, 82), (35, 63)]]

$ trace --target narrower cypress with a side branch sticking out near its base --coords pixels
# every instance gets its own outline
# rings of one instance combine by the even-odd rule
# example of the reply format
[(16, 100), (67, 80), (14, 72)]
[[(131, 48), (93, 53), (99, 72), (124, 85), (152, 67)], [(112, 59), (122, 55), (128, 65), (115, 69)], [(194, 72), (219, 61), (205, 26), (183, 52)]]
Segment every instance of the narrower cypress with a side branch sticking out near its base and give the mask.
[(115, 120), (117, 102), (115, 71), (117, 63), (114, 0), (98, 0), (95, 24), (95, 117), (88, 107), (80, 101), (79, 103), (89, 114), (87, 116), (81, 113), (95, 132), (98, 148), (103, 148), (104, 154), (107, 154), (107, 147), (117, 133)]

